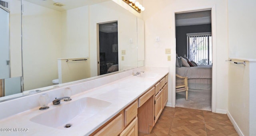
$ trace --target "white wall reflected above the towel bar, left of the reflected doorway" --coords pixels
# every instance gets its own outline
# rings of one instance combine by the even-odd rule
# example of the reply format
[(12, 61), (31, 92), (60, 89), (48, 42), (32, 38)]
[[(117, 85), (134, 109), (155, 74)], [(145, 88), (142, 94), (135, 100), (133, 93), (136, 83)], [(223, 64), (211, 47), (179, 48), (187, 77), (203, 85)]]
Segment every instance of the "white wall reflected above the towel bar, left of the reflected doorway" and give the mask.
[(61, 57), (89, 57), (89, 6), (61, 12)]

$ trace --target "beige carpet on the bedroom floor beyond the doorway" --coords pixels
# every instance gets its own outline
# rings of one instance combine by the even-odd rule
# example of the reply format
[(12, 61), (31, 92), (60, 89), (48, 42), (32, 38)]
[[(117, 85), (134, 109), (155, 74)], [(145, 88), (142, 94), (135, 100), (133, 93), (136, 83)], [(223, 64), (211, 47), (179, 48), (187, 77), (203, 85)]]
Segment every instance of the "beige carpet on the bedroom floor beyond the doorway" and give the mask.
[(212, 91), (189, 89), (188, 101), (186, 101), (186, 91), (176, 93), (176, 106), (211, 111)]

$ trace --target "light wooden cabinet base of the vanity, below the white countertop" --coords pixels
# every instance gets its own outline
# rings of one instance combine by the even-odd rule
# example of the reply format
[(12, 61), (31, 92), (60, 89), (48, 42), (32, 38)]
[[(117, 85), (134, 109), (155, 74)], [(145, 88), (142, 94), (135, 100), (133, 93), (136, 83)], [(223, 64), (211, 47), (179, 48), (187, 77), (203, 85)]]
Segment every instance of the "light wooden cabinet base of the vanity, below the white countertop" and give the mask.
[(165, 75), (90, 136), (138, 136), (138, 132), (149, 134), (167, 101), (168, 75)]

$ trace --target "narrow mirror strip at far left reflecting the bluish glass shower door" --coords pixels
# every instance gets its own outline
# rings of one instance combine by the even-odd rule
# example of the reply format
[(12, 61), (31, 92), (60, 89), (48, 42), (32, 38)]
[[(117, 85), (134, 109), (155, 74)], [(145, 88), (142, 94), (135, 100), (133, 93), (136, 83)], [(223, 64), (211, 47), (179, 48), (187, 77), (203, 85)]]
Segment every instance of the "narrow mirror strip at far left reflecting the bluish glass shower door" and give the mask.
[(0, 2), (0, 97), (21, 93), (21, 8), (19, 0)]

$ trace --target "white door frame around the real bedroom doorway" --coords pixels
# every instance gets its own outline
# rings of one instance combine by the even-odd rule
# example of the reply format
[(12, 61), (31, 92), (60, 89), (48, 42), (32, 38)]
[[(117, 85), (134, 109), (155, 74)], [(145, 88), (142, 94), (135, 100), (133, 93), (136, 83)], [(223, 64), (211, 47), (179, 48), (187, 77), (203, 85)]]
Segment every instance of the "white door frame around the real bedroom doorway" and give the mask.
[[(176, 54), (176, 24), (175, 24), (175, 14), (176, 13), (186, 13), (186, 12), (195, 12), (195, 11), (203, 11), (203, 10), (211, 10), (211, 20), (212, 20), (212, 112), (216, 112), (216, 79), (217, 79), (217, 67), (216, 67), (216, 57), (217, 57), (217, 44), (216, 44), (216, 6), (204, 6), (204, 7), (193, 7), (188, 9), (180, 9), (172, 12), (172, 27), (173, 34), (172, 39), (174, 40), (174, 54)], [(176, 55), (175, 56), (176, 60)], [(174, 58), (174, 57), (173, 57)], [(174, 61), (175, 62), (175, 61)], [(176, 65), (173, 63), (171, 66), (171, 69), (174, 69), (176, 71)], [(175, 84), (176, 84), (176, 77), (175, 74), (172, 74), (172, 107), (175, 107), (175, 101), (176, 101), (176, 92), (175, 92)]]

